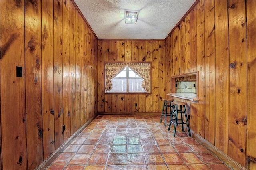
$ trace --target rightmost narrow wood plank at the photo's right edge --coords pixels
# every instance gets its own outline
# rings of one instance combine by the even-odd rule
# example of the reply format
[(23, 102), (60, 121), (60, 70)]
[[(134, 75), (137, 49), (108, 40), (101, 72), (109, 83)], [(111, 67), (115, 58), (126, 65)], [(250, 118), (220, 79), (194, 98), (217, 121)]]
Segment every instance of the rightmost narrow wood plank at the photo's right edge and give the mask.
[[(247, 8), (247, 138), (246, 138), (246, 158), (256, 158), (256, 1), (246, 1)], [(247, 159), (246, 168), (256, 169), (256, 163)]]

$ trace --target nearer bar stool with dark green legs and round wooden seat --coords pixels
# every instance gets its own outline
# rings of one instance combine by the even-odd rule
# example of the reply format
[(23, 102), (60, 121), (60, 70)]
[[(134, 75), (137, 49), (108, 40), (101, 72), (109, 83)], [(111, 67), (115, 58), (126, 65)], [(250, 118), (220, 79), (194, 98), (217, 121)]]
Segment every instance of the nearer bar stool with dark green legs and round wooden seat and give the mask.
[[(170, 131), (170, 127), (173, 123), (174, 124), (174, 132), (173, 132), (174, 137), (175, 137), (175, 132), (176, 132), (176, 126), (178, 126), (178, 124), (181, 124), (182, 131), (184, 131), (183, 124), (187, 124), (188, 134), (189, 134), (189, 136), (191, 136), (185, 105), (186, 105), (185, 102), (179, 102), (179, 101), (172, 102), (173, 110), (172, 110), (172, 114), (171, 114), (171, 120), (170, 120), (168, 131)], [(179, 106), (180, 106), (180, 109), (178, 109)], [(178, 119), (178, 113), (180, 113), (180, 117), (181, 117), (180, 119)], [(185, 115), (186, 122), (183, 121), (183, 114)], [(172, 119), (173, 116), (175, 117), (175, 119)]]

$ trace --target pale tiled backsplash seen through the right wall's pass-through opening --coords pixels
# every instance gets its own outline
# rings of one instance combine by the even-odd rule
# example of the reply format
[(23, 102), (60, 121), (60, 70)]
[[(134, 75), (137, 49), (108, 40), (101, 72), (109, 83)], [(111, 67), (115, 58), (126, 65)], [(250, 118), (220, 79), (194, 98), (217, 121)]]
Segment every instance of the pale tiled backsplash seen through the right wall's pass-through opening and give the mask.
[(196, 81), (176, 81), (176, 93), (196, 93)]

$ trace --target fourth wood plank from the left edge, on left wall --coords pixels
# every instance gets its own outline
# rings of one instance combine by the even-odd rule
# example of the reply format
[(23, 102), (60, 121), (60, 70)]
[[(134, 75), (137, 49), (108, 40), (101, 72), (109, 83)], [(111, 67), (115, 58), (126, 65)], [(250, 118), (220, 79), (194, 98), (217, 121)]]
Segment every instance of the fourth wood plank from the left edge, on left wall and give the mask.
[(64, 142), (62, 132), (63, 125), (63, 36), (62, 36), (62, 1), (54, 1), (54, 22), (53, 22), (53, 49), (54, 49), (54, 127), (55, 127), (55, 148), (60, 147)]

